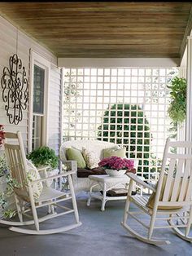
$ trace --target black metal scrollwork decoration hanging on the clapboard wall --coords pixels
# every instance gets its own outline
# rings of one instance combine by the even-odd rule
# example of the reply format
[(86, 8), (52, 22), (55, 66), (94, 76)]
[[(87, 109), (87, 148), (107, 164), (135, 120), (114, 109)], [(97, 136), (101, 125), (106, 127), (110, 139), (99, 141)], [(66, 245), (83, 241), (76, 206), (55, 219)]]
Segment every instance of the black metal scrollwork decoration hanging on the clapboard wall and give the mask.
[(18, 55), (10, 57), (9, 68), (3, 68), (1, 84), (9, 122), (18, 125), (23, 119), (23, 110), (28, 107), (28, 79)]

